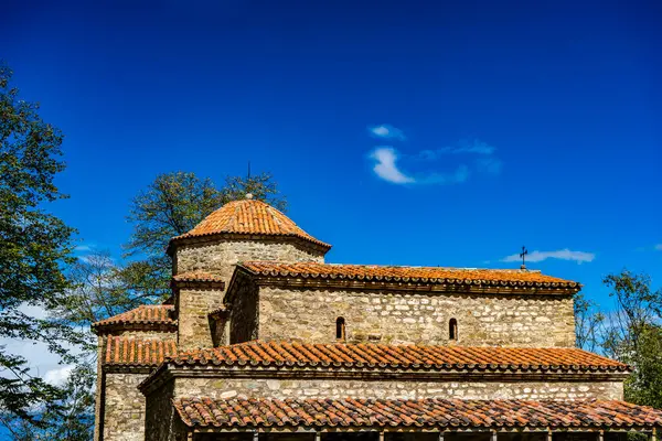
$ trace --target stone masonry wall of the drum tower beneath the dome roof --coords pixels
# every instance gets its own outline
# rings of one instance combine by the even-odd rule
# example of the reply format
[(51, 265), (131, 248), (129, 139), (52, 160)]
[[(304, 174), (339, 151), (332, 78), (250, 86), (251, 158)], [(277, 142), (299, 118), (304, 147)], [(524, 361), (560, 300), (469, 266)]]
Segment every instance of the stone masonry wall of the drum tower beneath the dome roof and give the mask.
[[(223, 277), (229, 283), (235, 265), (247, 260), (318, 261), (314, 254), (286, 240), (259, 238), (252, 240), (218, 239), (214, 243), (180, 245), (174, 257), (174, 272), (206, 271)], [(207, 314), (221, 306), (221, 291), (184, 290), (179, 293), (179, 347), (182, 351), (213, 345)], [(232, 333), (232, 332), (231, 332)]]

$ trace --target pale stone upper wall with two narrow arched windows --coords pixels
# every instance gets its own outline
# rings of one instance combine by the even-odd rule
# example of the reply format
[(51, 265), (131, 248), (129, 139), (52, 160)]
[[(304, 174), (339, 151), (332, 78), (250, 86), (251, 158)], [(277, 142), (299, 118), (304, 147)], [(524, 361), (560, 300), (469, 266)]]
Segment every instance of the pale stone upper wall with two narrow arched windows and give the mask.
[[(466, 346), (573, 347), (570, 295), (447, 294), (406, 291), (329, 291), (261, 287), (260, 340), (335, 342), (335, 320), (346, 341)], [(458, 341), (449, 342), (449, 321)]]

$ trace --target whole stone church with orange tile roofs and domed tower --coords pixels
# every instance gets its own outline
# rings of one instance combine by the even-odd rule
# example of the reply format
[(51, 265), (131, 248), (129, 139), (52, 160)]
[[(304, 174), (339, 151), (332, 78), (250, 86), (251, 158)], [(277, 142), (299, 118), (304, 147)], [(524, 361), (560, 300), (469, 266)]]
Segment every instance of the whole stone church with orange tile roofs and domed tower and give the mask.
[(616, 441), (662, 411), (575, 348), (575, 281), (324, 262), (246, 198), (172, 238), (172, 301), (93, 325), (97, 441)]

